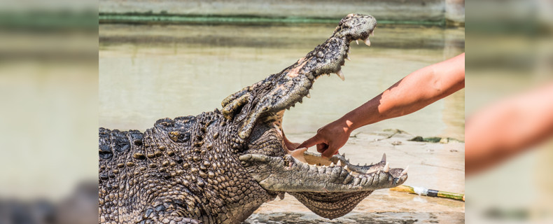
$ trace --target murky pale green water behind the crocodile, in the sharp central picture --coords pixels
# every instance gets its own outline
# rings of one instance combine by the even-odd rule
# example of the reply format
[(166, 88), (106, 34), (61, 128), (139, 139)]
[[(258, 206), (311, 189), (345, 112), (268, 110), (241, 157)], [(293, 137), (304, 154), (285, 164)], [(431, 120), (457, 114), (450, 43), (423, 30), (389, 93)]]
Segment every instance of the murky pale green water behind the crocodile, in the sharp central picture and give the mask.
[[(292, 27), (101, 25), (99, 125), (145, 130), (158, 118), (221, 107), (242, 87), (277, 73), (322, 43), (334, 25)], [(355, 45), (337, 76), (286, 112), (287, 133), (315, 132), (423, 66), (464, 50), (464, 29), (382, 27), (372, 47)], [(363, 127), (464, 139), (464, 91), (421, 111)]]

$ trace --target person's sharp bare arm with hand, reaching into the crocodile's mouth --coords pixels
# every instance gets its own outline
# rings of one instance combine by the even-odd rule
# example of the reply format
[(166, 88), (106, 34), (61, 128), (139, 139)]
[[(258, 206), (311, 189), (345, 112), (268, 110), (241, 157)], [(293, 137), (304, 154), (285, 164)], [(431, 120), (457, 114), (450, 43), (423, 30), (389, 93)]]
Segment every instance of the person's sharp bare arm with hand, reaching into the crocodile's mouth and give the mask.
[(317, 147), (323, 157), (338, 153), (353, 130), (404, 116), (465, 87), (465, 53), (414, 71), (377, 97), (317, 131), (297, 148)]

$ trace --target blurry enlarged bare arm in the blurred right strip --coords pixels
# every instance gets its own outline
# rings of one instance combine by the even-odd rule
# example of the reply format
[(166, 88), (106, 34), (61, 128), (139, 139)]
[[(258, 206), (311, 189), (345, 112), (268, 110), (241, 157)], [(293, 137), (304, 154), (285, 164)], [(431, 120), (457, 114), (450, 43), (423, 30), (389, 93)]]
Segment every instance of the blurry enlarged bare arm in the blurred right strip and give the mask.
[(465, 129), (466, 174), (475, 174), (553, 135), (553, 84), (509, 97), (470, 116)]

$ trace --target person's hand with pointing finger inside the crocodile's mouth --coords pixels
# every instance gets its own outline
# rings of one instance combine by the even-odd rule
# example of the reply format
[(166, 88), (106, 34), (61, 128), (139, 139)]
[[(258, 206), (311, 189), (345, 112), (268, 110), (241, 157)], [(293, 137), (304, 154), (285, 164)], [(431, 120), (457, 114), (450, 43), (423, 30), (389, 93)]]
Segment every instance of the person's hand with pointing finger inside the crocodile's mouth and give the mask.
[(309, 148), (317, 145), (317, 151), (324, 158), (330, 158), (338, 153), (338, 149), (342, 148), (349, 139), (349, 128), (341, 120), (336, 120), (317, 130), (317, 134), (311, 139), (307, 139), (297, 148)]

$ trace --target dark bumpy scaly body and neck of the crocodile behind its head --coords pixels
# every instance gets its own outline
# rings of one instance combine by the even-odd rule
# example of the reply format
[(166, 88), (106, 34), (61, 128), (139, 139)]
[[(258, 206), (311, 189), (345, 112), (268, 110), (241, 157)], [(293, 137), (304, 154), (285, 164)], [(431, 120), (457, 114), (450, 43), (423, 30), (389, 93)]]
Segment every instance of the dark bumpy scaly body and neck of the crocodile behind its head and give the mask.
[(241, 167), (233, 135), (218, 111), (158, 120), (144, 134), (100, 128), (100, 223), (244, 221), (276, 194)]

